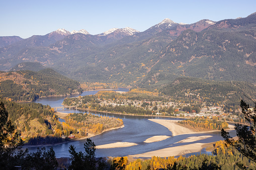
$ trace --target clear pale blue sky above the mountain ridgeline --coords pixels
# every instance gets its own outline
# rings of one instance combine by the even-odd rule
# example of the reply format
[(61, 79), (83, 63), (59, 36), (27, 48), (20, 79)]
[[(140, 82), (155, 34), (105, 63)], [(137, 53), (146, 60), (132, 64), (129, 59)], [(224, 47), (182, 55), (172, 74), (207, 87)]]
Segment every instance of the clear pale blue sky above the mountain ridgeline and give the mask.
[(131, 27), (140, 32), (169, 18), (192, 24), (202, 19), (220, 21), (256, 12), (256, 1), (5, 1), (0, 0), (0, 36), (45, 35), (59, 28), (100, 34)]

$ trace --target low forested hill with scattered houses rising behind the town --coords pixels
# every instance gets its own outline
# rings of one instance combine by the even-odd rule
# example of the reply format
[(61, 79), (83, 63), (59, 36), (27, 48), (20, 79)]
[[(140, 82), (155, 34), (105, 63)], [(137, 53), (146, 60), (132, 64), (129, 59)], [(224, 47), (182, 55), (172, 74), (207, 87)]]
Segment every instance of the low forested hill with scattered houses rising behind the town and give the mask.
[(177, 78), (172, 83), (159, 88), (162, 94), (174, 100), (200, 101), (206, 105), (239, 106), (240, 100), (256, 98), (254, 85), (239, 81), (210, 81), (198, 78)]

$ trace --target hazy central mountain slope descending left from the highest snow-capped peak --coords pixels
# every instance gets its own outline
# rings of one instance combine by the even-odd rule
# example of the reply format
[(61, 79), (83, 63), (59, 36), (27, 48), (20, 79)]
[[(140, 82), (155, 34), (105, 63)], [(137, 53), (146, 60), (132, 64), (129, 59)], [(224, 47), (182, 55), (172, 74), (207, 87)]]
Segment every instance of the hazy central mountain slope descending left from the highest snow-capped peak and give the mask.
[[(138, 80), (137, 77), (141, 77), (148, 72), (148, 68), (144, 67), (143, 63), (147, 63), (156, 52), (175, 40), (180, 32), (186, 30), (186, 27), (194, 28), (199, 31), (214, 24), (212, 21), (202, 20), (191, 25), (175, 24), (175, 26), (179, 27), (168, 27), (168, 25), (166, 26), (166, 23), (164, 23), (165, 20), (150, 28), (149, 31), (136, 33), (133, 36), (127, 36), (121, 40), (114, 41), (113, 43), (109, 43), (101, 47), (98, 46), (96, 52), (91, 48), (87, 51), (81, 50), (78, 53), (74, 53), (72, 58), (73, 63), (67, 64), (69, 67), (72, 67), (74, 62), (78, 61), (79, 63), (75, 64), (77, 71), (70, 71), (68, 75), (72, 75), (72, 77), (76, 78), (78, 78), (77, 75), (79, 75), (78, 79), (82, 79), (83, 81), (88, 79), (93, 80), (96, 78), (97, 81), (99, 81), (99, 78), (102, 77), (104, 77), (104, 81), (136, 81)], [(180, 28), (182, 28), (182, 30)], [(146, 32), (150, 31), (155, 35), (150, 35), (150, 38), (139, 41), (141, 39), (141, 35), (145, 38), (147, 37), (144, 36), (147, 34)], [(160, 33), (158, 33), (159, 31)], [(89, 51), (91, 52), (91, 55)], [(81, 65), (81, 62), (85, 64)], [(59, 70), (62, 71), (62, 68), (59, 68)], [(93, 76), (88, 74), (88, 70), (94, 72)], [(64, 72), (65, 70), (63, 70), (63, 74), (66, 74)], [(84, 76), (82, 76), (81, 73), (84, 73)]]

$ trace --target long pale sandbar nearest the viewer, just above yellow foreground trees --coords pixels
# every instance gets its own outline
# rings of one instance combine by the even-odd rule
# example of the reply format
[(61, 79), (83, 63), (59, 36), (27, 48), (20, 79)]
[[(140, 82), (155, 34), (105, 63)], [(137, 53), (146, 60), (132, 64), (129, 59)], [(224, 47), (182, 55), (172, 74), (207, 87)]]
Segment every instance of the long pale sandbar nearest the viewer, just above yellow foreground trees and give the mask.
[(182, 146), (175, 147), (167, 147), (159, 150), (154, 150), (141, 154), (129, 155), (132, 157), (151, 157), (151, 156), (159, 156), (159, 157), (168, 157), (168, 156), (179, 156), (187, 153), (199, 152), (202, 150), (202, 146), (205, 143), (193, 143)]

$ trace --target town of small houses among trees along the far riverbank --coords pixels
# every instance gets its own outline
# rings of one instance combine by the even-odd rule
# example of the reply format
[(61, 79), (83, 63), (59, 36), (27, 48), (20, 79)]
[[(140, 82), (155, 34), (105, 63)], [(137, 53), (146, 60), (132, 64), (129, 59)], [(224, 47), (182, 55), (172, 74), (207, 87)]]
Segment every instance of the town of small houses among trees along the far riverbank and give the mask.
[[(110, 92), (101, 92), (101, 93), (110, 93)], [(124, 93), (124, 92), (115, 92), (115, 93)], [(117, 95), (118, 96), (118, 95)], [(77, 100), (78, 99), (78, 100)], [(71, 103), (70, 101), (71, 100)], [(69, 101), (69, 102), (68, 102)], [(235, 111), (225, 110), (223, 104), (218, 104), (219, 106), (207, 106), (206, 103), (200, 104), (200, 106), (195, 107), (194, 104), (185, 103), (183, 101), (168, 101), (164, 102), (161, 100), (148, 101), (147, 99), (142, 100), (132, 100), (132, 99), (111, 99), (104, 97), (96, 97), (94, 102), (88, 102), (84, 100), (83, 97), (79, 96), (77, 98), (66, 98), (63, 104), (71, 106), (77, 106), (77, 108), (83, 108), (88, 110), (95, 111), (108, 111), (115, 113), (115, 109), (110, 109), (114, 107), (130, 107), (137, 109), (143, 109), (145, 112), (126, 112), (122, 111), (119, 113), (123, 114), (134, 114), (134, 115), (152, 115), (152, 116), (174, 116), (174, 117), (183, 117), (183, 118), (194, 118), (194, 117), (204, 117), (204, 118), (213, 118), (217, 117), (218, 120), (230, 121), (230, 122), (241, 122), (244, 120), (242, 117), (239, 117), (241, 110), (238, 108)], [(105, 108), (105, 110), (104, 110)], [(117, 113), (117, 112), (116, 112)], [(236, 113), (236, 114), (233, 114)]]

